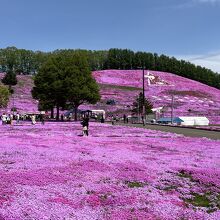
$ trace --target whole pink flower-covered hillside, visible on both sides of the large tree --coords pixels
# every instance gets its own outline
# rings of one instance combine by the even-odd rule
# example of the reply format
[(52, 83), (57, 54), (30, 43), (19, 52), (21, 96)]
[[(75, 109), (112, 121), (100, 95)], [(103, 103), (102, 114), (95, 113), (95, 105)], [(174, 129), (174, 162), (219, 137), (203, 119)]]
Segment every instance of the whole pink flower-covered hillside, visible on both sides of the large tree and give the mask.
[[(136, 96), (142, 91), (142, 70), (102, 70), (93, 76), (100, 85), (101, 101), (82, 108), (105, 109), (110, 113), (129, 112)], [(145, 70), (145, 95), (156, 107), (164, 107), (161, 115), (170, 115), (174, 94), (174, 115), (205, 115), (211, 123), (220, 124), (220, 90), (172, 73)], [(3, 75), (1, 74), (1, 77)], [(13, 106), (20, 112), (37, 111), (37, 101), (31, 97), (31, 76), (18, 75), (18, 84), (7, 110)], [(108, 100), (115, 105), (107, 105)]]

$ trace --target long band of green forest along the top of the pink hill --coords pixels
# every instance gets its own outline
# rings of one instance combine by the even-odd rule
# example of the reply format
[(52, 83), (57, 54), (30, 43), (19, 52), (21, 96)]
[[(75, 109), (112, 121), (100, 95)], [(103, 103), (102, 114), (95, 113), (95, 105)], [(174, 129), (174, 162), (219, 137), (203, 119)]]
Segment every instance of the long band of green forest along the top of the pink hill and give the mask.
[(210, 69), (196, 66), (175, 57), (158, 55), (149, 52), (134, 52), (129, 49), (112, 48), (109, 50), (55, 50), (53, 52), (32, 51), (7, 47), (0, 49), (0, 72), (8, 70), (16, 74), (36, 74), (42, 64), (50, 56), (57, 53), (86, 54), (90, 68), (94, 70), (124, 69), (132, 70), (145, 68), (155, 71), (174, 73), (189, 79), (220, 89), (220, 74)]

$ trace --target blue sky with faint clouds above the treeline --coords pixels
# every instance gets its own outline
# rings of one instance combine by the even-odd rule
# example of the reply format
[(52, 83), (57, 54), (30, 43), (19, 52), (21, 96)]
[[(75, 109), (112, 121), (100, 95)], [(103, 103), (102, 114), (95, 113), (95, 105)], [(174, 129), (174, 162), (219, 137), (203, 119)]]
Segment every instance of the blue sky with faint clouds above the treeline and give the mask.
[(128, 48), (220, 72), (220, 0), (0, 0), (0, 48)]

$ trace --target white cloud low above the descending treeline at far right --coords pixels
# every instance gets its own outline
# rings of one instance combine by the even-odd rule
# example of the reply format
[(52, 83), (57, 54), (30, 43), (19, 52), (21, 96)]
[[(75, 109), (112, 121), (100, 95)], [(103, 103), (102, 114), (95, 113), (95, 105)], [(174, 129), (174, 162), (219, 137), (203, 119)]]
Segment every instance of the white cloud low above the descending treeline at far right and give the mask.
[(202, 55), (178, 55), (175, 57), (220, 73), (220, 52)]

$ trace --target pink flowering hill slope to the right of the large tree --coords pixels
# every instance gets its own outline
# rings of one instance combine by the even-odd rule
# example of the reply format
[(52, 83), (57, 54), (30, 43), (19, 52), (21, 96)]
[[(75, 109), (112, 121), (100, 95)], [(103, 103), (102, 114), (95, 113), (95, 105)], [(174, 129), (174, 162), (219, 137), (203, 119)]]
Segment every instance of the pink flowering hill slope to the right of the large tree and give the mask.
[[(220, 124), (220, 90), (171, 73), (145, 70), (147, 73), (154, 79), (150, 86), (145, 80), (145, 95), (154, 107), (167, 107), (164, 116), (170, 117), (171, 94), (175, 91), (175, 116), (204, 115), (212, 124)], [(126, 109), (142, 91), (142, 70), (103, 70), (93, 72), (93, 76), (105, 85), (101, 87), (102, 99), (116, 100), (116, 106), (107, 106), (109, 111)]]

